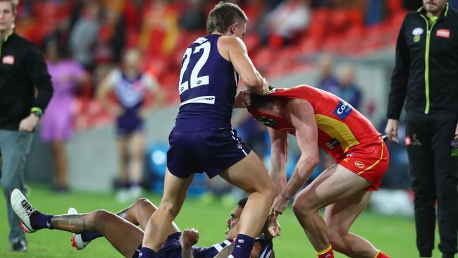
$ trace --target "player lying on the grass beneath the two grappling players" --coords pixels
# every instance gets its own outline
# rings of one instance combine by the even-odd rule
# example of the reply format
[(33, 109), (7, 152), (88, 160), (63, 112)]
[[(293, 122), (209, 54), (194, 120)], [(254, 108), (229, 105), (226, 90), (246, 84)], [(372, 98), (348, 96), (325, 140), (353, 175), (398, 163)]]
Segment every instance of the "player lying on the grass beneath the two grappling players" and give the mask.
[[(237, 236), (240, 214), (246, 203), (247, 198), (240, 199), (237, 207), (231, 212), (231, 217), (227, 221), (228, 231), (225, 232), (226, 240), (224, 242), (211, 247), (194, 247), (193, 245), (199, 240), (199, 232), (193, 228), (187, 228), (180, 233), (178, 226), (173, 223), (167, 228), (168, 238), (159, 250), (159, 257), (215, 257), (223, 250), (223, 247), (230, 245), (230, 240)], [(157, 209), (148, 199), (142, 198), (130, 207), (119, 211), (118, 214), (97, 210), (88, 214), (53, 216), (37, 211), (17, 189), (11, 193), (11, 206), (18, 214), (25, 232), (33, 233), (42, 228), (69, 231), (74, 233), (73, 246), (79, 250), (86, 247), (90, 241), (104, 236), (125, 257), (138, 257), (144, 232), (137, 226), (144, 228), (149, 217)], [(262, 235), (268, 235), (268, 233)], [(229, 250), (229, 254), (231, 251)], [(251, 257), (275, 257), (271, 238), (262, 236), (257, 238)]]

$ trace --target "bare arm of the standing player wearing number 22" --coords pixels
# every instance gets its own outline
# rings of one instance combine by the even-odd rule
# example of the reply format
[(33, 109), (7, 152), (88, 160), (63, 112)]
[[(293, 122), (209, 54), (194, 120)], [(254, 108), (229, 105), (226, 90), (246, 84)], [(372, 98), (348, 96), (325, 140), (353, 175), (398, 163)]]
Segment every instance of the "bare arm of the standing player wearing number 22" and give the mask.
[(249, 59), (247, 47), (238, 37), (222, 36), (218, 39), (218, 51), (224, 59), (233, 63), (237, 73), (242, 78), (250, 92), (265, 95), (268, 92), (268, 82), (259, 74)]

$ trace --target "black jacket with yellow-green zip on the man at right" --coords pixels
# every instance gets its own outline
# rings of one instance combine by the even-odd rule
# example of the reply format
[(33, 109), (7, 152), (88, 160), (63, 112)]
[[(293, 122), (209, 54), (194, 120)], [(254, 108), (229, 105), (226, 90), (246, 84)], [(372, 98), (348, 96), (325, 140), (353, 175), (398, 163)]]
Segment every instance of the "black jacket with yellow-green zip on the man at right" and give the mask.
[(448, 4), (438, 20), (424, 8), (404, 18), (396, 47), (388, 118), (402, 106), (421, 113), (458, 113), (458, 13)]

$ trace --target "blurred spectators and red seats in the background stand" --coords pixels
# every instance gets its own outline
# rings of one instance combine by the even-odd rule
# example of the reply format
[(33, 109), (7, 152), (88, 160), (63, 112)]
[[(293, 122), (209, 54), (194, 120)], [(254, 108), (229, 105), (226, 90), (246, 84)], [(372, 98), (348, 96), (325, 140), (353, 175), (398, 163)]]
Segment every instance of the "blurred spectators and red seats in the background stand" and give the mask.
[[(347, 46), (345, 53), (361, 52), (394, 42), (397, 30), (390, 29), (399, 25), (404, 6), (409, 7), (413, 1), (233, 2), (240, 4), (250, 19), (245, 39), (250, 56), (262, 72), (274, 74), (303, 66), (300, 58), (316, 51), (342, 54)], [(18, 6), (16, 30), (43, 49), (57, 42), (63, 57), (72, 57), (92, 75), (93, 85), (120, 62), (123, 49), (138, 47), (143, 51), (144, 68), (163, 87), (171, 88), (168, 96), (173, 99), (183, 49), (194, 37), (205, 34), (206, 15), (215, 3), (23, 0)], [(366, 29), (369, 26), (371, 30)], [(370, 39), (354, 47), (354, 40), (367, 33), (371, 33)], [(272, 54), (281, 58), (272, 63)], [(90, 96), (94, 92), (90, 89), (83, 92)]]

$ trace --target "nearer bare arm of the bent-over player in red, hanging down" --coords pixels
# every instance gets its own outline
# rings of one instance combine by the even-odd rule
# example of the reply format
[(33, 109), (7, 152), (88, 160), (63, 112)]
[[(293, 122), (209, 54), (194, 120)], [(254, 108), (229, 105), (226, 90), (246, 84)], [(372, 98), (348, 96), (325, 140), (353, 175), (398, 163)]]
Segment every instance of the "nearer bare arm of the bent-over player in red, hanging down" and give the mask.
[(296, 129), (297, 145), (299, 145), (301, 156), (290, 180), (287, 181), (285, 188), (273, 202), (274, 214), (283, 213), (289, 199), (309, 179), (319, 162), (318, 129), (311, 104), (304, 99), (290, 100), (285, 107), (285, 118)]

